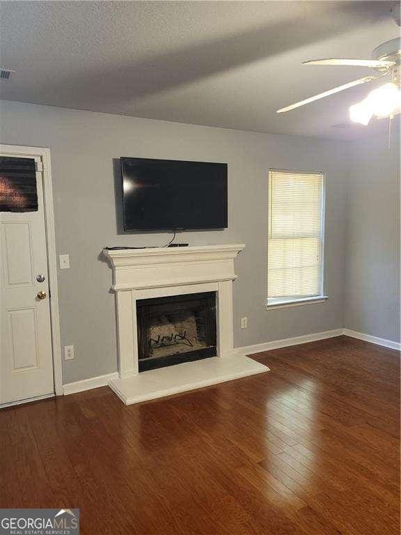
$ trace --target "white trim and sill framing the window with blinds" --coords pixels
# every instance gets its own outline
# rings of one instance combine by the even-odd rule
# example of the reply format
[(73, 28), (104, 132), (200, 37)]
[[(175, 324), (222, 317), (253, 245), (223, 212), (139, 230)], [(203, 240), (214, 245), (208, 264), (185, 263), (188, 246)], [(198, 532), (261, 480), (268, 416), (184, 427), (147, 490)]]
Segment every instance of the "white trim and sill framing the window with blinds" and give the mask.
[[(266, 304), (265, 307), (267, 310), (274, 310), (274, 309), (283, 309), (288, 307), (298, 307), (302, 304), (317, 304), (317, 303), (323, 303), (326, 302), (329, 299), (329, 296), (324, 293), (324, 286), (325, 286), (325, 238), (326, 238), (326, 192), (327, 192), (327, 173), (326, 171), (311, 171), (310, 169), (277, 169), (274, 167), (269, 167), (269, 171), (267, 173), (267, 209), (270, 209), (270, 200), (269, 200), (269, 183), (270, 183), (270, 173), (274, 173), (274, 171), (278, 173), (288, 173), (288, 174), (294, 174), (294, 173), (310, 173), (310, 174), (320, 174), (322, 175), (322, 222), (320, 227), (320, 235), (321, 235), (321, 256), (322, 256), (322, 265), (321, 265), (321, 272), (320, 272), (320, 294), (319, 295), (310, 295), (306, 297), (294, 297), (292, 300), (285, 300), (282, 301), (279, 300), (279, 298), (276, 298), (276, 302), (269, 304), (269, 265), (267, 265), (267, 297), (266, 297)], [(267, 263), (269, 263), (269, 213), (267, 214)]]

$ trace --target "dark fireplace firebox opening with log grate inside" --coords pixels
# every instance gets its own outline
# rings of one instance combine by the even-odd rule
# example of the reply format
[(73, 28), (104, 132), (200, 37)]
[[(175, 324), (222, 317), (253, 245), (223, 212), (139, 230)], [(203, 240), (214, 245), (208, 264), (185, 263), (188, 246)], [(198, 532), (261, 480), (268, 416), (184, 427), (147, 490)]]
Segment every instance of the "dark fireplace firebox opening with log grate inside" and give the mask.
[(136, 301), (139, 371), (217, 355), (216, 293)]

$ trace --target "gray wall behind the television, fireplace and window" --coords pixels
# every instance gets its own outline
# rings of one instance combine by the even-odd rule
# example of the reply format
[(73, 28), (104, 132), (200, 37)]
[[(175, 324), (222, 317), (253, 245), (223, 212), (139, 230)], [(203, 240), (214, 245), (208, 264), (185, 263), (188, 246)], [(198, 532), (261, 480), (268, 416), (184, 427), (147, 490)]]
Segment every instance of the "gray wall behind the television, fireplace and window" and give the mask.
[[(313, 138), (257, 134), (1, 102), (0, 139), (49, 147), (52, 154), (56, 247), (70, 254), (58, 273), (61, 343), (74, 344), (63, 382), (117, 369), (111, 270), (106, 245), (162, 245), (168, 234), (118, 235), (113, 158), (139, 156), (228, 162), (229, 227), (178, 235), (190, 245), (244, 242), (236, 261), (235, 346), (343, 327), (347, 146)], [(267, 171), (327, 171), (324, 304), (265, 310), (267, 293)], [(249, 316), (249, 328), (239, 318)]]

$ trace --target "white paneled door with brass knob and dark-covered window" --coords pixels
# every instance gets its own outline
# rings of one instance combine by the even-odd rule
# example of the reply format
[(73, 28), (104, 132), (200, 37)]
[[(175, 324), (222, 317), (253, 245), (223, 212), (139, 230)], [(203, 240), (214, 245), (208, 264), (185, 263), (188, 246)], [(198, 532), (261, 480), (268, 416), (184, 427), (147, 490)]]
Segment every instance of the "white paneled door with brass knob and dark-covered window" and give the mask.
[(0, 153), (0, 405), (54, 392), (40, 169), (39, 157)]

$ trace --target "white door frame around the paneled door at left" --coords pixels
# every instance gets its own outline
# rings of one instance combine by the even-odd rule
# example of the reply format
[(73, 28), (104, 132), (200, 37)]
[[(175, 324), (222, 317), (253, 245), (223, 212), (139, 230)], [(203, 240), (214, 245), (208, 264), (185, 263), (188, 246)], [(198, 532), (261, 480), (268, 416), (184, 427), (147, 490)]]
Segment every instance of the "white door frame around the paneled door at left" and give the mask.
[(54, 208), (52, 189), (52, 166), (49, 148), (25, 147), (0, 144), (0, 153), (22, 157), (39, 156), (42, 160), (43, 206), (45, 209), (45, 234), (47, 245), (47, 265), (49, 268), (50, 323), (52, 328), (52, 353), (54, 393), (63, 395), (63, 364), (61, 359), (60, 313), (58, 309), (58, 281), (56, 233), (54, 231)]

